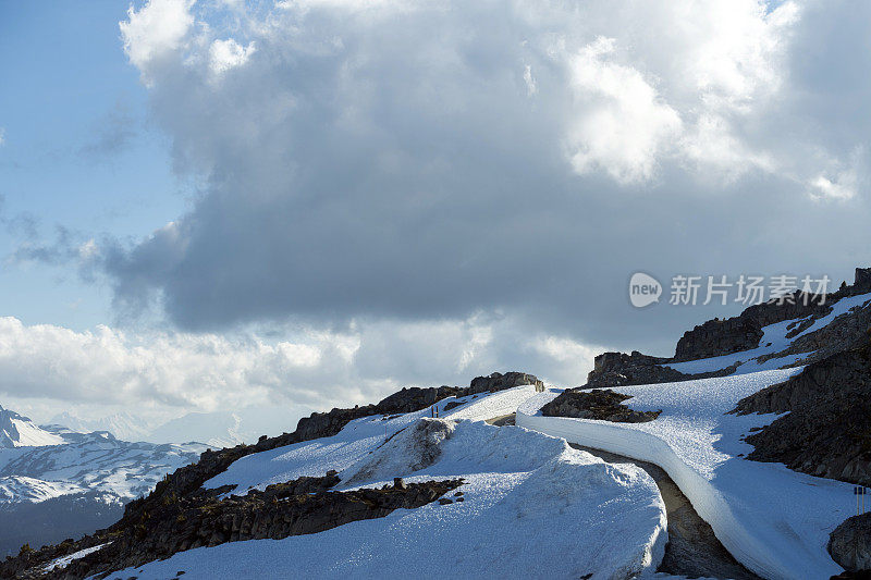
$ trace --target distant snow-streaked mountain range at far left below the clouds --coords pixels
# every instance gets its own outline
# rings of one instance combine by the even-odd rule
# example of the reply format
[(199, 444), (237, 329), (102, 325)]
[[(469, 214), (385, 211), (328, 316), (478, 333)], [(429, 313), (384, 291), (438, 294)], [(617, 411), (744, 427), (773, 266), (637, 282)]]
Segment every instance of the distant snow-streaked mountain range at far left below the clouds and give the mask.
[(196, 461), (206, 448), (37, 425), (0, 407), (0, 519), (16, 522), (0, 527), (0, 556), (25, 543), (61, 541), (111, 523), (126, 502)]

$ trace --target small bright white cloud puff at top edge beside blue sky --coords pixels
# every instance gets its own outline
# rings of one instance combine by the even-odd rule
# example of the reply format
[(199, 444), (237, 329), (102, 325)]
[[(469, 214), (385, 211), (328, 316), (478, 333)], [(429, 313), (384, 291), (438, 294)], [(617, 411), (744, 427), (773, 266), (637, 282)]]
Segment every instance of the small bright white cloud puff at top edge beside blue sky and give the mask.
[(138, 11), (131, 5), (119, 23), (124, 51), (147, 82), (155, 62), (182, 47), (194, 24), (193, 5), (194, 0), (148, 0)]

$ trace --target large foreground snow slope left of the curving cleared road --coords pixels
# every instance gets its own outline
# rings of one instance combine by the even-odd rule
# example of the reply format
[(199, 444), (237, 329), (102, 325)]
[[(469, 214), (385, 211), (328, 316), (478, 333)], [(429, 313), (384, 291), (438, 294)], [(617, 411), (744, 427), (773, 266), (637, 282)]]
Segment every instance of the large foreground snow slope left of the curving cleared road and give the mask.
[[(502, 403), (531, 392), (515, 391)], [(191, 550), (116, 576), (605, 579), (655, 569), (665, 508), (645, 471), (520, 428), (420, 415), (359, 420), (331, 441), (248, 456), (237, 461), (245, 469), (210, 484), (260, 486), (274, 479), (281, 457), (282, 478), (342, 466), (344, 488), (462, 477), (463, 502), (397, 509), (310, 535)], [(395, 433), (387, 443), (384, 425), (388, 436)]]

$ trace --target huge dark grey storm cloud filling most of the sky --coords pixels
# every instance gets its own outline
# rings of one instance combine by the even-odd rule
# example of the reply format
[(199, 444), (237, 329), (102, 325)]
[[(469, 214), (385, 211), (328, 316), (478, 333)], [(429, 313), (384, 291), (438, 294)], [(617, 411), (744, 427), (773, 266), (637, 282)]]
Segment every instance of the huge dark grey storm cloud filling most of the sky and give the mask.
[[(207, 185), (103, 247), (116, 300), (199, 330), (504, 310), (663, 348), (726, 309), (634, 310), (635, 271), (845, 276), (871, 259), (868, 57), (847, 75), (839, 50), (796, 55), (819, 7), (714, 4), (682, 14), (723, 38), (662, 46), (667, 9), (559, 3), (312, 3), (243, 21), (223, 52), (196, 25), (128, 42), (179, 171)], [(837, 87), (854, 107), (825, 106)]]

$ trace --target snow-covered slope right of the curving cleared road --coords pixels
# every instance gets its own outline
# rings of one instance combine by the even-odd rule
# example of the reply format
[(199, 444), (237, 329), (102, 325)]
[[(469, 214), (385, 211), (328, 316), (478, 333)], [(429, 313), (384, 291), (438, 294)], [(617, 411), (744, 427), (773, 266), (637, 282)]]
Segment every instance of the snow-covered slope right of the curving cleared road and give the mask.
[(741, 437), (777, 416), (725, 415), (799, 370), (619, 387), (631, 408), (662, 409), (646, 423), (543, 417), (559, 394), (550, 390), (520, 406), (517, 424), (661, 466), (735, 558), (764, 578), (829, 578), (841, 568), (825, 545), (851, 515), (851, 485), (743, 459), (752, 447)]

